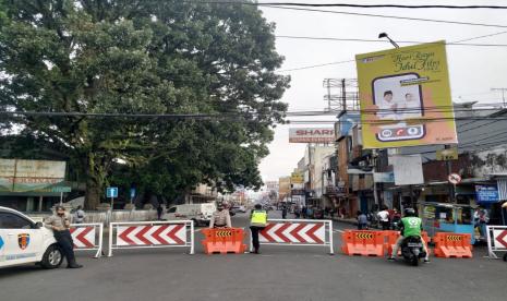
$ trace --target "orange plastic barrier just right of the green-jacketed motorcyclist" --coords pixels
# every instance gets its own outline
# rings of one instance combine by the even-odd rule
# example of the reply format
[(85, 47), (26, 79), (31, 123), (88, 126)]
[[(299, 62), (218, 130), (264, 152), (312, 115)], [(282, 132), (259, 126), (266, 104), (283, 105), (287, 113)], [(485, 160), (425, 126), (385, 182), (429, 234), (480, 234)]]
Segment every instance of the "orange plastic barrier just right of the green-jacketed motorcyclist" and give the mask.
[(471, 234), (458, 234), (449, 232), (438, 232), (433, 237), (435, 242), (435, 256), (471, 258), (472, 245)]

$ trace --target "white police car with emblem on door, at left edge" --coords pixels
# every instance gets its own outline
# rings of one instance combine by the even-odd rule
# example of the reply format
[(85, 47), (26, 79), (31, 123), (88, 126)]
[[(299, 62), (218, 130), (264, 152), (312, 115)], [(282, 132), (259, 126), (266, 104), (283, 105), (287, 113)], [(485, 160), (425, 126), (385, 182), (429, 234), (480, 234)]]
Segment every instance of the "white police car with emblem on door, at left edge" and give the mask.
[(0, 267), (36, 263), (44, 268), (59, 267), (63, 253), (53, 233), (41, 222), (0, 206)]

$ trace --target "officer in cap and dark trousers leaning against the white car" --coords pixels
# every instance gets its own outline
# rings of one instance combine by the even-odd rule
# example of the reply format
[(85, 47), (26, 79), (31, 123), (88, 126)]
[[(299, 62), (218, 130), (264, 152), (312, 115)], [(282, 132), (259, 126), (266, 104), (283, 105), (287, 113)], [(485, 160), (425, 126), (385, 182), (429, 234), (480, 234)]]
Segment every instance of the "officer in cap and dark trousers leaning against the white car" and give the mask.
[(45, 220), (46, 227), (51, 229), (58, 245), (61, 248), (63, 255), (67, 258), (68, 268), (83, 267), (75, 262), (74, 241), (72, 240), (69, 228), (71, 227), (69, 215), (63, 206), (57, 206), (55, 214)]

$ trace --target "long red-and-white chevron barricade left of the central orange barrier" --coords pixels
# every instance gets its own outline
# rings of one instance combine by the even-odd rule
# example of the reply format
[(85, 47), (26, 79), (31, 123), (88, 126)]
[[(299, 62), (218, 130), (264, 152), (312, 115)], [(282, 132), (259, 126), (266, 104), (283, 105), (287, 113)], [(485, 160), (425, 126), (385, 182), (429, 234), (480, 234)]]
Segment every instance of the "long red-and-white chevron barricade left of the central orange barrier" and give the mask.
[(194, 254), (192, 220), (125, 221), (109, 224), (109, 253), (114, 249), (190, 248)]

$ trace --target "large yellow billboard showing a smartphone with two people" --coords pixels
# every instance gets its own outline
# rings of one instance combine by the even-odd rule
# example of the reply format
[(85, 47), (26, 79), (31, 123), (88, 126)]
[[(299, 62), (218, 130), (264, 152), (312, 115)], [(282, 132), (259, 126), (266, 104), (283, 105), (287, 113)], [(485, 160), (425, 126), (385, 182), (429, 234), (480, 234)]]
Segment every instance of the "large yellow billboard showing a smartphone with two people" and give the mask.
[(458, 143), (445, 41), (355, 56), (364, 148)]

